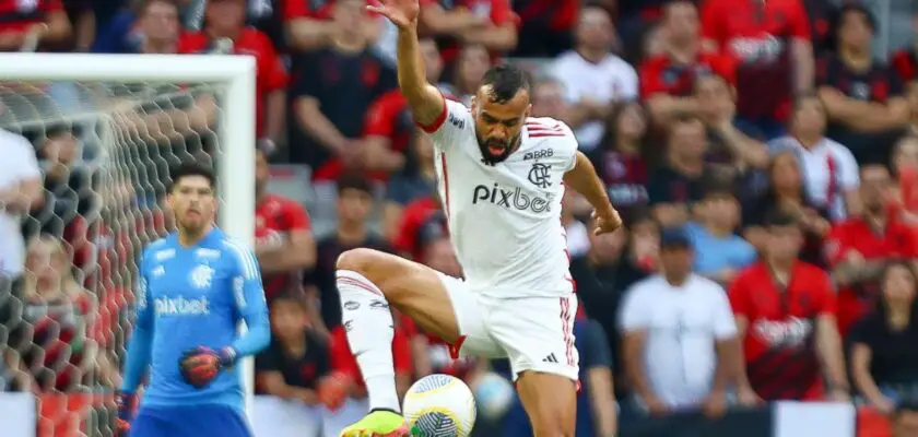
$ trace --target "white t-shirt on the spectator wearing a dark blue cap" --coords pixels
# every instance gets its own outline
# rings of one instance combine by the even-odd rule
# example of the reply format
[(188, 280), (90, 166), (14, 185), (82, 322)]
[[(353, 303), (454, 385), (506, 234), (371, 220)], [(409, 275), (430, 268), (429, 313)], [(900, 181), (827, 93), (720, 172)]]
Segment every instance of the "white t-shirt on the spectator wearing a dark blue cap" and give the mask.
[(625, 294), (621, 324), (626, 333), (647, 332), (647, 379), (672, 409), (691, 409), (704, 401), (714, 385), (716, 342), (737, 336), (723, 287), (696, 274), (682, 286), (661, 275), (633, 285)]

